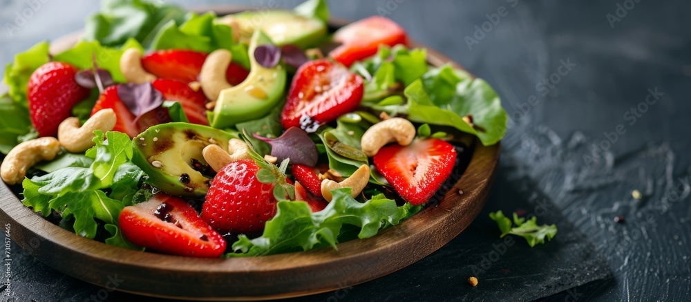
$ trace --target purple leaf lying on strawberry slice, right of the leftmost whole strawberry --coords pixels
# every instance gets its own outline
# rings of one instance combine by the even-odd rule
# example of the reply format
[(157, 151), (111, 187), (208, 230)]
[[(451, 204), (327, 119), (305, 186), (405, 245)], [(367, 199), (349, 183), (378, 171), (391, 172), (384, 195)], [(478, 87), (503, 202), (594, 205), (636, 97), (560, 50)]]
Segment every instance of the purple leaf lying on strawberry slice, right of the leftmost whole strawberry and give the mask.
[(135, 122), (145, 113), (160, 107), (164, 102), (163, 95), (155, 90), (151, 83), (121, 84), (117, 87), (117, 96), (135, 115)]

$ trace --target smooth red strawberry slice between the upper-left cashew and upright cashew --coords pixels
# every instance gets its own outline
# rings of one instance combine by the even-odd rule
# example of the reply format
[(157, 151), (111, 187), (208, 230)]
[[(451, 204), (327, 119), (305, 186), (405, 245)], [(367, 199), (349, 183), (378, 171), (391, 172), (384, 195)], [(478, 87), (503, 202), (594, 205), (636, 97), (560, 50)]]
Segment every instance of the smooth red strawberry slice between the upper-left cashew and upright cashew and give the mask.
[(142, 66), (161, 79), (189, 83), (197, 80), (205, 59), (206, 53), (193, 50), (156, 50), (142, 58)]

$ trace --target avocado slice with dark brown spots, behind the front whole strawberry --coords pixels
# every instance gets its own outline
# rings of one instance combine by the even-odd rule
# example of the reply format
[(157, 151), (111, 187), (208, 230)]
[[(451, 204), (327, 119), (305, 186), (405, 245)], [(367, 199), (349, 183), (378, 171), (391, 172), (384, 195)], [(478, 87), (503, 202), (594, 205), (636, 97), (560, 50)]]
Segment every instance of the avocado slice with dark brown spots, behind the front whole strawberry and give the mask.
[(192, 167), (197, 160), (207, 162), (202, 150), (209, 144), (228, 149), (234, 138), (225, 131), (209, 126), (184, 122), (152, 126), (132, 142), (135, 145), (132, 162), (149, 176), (154, 187), (176, 196), (204, 196), (209, 189), (209, 177)]

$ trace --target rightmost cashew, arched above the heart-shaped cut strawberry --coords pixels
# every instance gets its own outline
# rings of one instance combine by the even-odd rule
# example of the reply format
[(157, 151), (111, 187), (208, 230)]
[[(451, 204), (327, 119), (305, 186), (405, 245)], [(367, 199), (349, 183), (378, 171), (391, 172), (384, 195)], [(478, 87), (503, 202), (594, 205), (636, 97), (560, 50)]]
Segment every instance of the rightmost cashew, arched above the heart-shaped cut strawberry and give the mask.
[(394, 117), (374, 124), (362, 135), (360, 145), (362, 151), (372, 157), (381, 147), (390, 142), (398, 142), (401, 146), (408, 146), (415, 138), (415, 126), (410, 121)]

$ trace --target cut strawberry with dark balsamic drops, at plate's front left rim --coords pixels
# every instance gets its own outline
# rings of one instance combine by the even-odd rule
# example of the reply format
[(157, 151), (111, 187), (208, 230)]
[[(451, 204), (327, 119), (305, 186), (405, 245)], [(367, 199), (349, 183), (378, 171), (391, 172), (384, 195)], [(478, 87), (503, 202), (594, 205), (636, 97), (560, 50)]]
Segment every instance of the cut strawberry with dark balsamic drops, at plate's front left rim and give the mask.
[(156, 194), (149, 201), (125, 207), (120, 229), (131, 243), (179, 256), (218, 258), (226, 242), (182, 198)]

